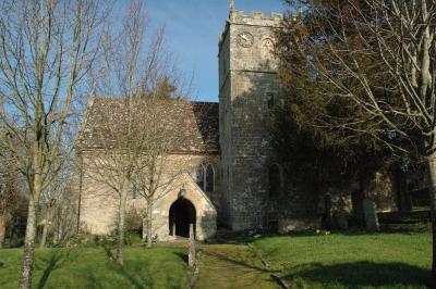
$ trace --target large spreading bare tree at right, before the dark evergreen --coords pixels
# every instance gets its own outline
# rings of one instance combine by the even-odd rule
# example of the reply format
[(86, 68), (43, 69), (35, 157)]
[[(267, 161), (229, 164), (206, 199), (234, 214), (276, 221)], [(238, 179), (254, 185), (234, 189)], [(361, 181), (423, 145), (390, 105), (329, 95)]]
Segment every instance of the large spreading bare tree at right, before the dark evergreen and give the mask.
[(375, 137), (392, 152), (428, 163), (436, 281), (436, 3), (308, 2), (304, 20), (286, 21), (288, 45), (279, 54), (295, 49), (324, 101), (355, 108), (354, 117), (314, 114), (315, 125)]

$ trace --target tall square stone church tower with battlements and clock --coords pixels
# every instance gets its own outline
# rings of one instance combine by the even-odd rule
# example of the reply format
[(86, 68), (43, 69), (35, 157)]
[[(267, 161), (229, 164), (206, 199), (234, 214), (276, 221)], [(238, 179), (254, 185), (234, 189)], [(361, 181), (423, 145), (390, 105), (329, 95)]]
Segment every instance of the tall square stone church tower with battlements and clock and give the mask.
[(269, 116), (277, 100), (274, 30), (282, 15), (230, 14), (219, 41), (219, 113), (222, 215), (232, 229), (264, 227), (268, 167), (272, 163)]

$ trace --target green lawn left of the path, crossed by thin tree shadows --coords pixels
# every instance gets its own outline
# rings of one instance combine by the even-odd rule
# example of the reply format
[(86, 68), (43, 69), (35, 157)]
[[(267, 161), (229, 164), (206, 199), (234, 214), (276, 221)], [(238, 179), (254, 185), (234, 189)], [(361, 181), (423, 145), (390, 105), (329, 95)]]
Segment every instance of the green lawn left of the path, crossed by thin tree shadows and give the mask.
[[(77, 247), (36, 250), (33, 288), (184, 288), (186, 249), (128, 247), (124, 266), (114, 250)], [(22, 249), (0, 250), (0, 288), (16, 288)]]

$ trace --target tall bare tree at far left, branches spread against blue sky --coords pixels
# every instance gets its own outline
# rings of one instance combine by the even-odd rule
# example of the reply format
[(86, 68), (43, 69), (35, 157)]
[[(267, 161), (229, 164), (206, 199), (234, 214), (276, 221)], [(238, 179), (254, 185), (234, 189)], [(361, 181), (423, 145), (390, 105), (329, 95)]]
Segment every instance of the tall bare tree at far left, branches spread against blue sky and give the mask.
[(1, 121), (4, 144), (28, 186), (20, 288), (31, 288), (41, 192), (72, 151), (81, 85), (98, 52), (104, 1), (5, 0), (0, 4)]

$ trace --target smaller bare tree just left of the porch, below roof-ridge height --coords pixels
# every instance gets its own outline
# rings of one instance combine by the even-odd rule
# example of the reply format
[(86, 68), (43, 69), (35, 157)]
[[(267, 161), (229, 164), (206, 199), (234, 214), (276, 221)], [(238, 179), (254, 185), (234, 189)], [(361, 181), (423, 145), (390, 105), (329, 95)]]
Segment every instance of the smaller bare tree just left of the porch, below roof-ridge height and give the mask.
[[(191, 104), (166, 99), (166, 89), (159, 87), (156, 93), (161, 98), (158, 101), (148, 99), (144, 103), (144, 114), (141, 114), (145, 121), (141, 128), (144, 133), (144, 146), (134, 164), (132, 178), (134, 193), (144, 200), (146, 214), (143, 222), (143, 241), (146, 241), (148, 248), (153, 242), (153, 210), (156, 201), (170, 192), (178, 176), (184, 172), (192, 173), (195, 168), (195, 162), (189, 158), (177, 158), (172, 154), (178, 149), (178, 143), (185, 141), (179, 129), (185, 129), (180, 124), (189, 117), (183, 111), (172, 108), (187, 105), (191, 109)], [(198, 112), (204, 113), (206, 112)]]

